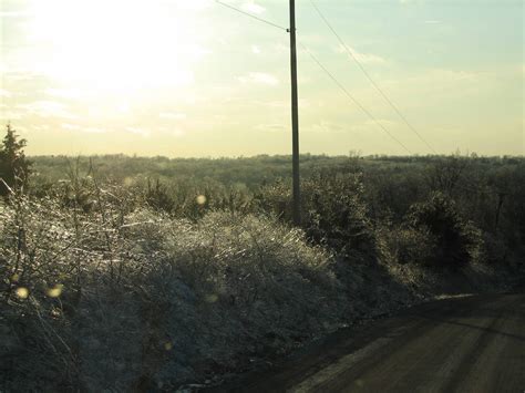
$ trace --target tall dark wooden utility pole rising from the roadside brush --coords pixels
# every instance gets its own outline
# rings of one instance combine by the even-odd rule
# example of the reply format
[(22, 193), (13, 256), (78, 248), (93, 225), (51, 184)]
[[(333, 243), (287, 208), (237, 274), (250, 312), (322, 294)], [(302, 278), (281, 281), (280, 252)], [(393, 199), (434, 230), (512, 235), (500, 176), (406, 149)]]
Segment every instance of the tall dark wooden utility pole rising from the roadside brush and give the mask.
[(299, 183), (299, 105), (297, 93), (296, 1), (290, 0), (290, 66), (291, 66), (291, 165), (294, 177), (294, 224), (301, 224)]

